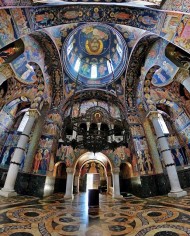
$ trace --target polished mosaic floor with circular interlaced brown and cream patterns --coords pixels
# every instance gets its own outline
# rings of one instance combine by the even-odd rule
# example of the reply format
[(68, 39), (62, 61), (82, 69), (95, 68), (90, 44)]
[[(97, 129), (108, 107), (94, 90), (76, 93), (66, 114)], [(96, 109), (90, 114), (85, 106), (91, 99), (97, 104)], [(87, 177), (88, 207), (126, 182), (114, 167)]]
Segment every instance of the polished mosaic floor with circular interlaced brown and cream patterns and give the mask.
[(11, 236), (189, 236), (190, 191), (180, 199), (100, 195), (88, 208), (86, 194), (65, 201), (63, 194), (44, 199), (0, 197), (0, 235)]

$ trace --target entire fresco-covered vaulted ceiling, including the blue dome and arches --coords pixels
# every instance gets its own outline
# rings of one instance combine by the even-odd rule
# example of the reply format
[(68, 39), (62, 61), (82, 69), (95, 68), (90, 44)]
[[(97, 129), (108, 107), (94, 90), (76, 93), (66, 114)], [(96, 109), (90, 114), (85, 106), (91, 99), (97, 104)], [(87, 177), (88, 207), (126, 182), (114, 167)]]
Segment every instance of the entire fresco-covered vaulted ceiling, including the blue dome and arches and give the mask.
[[(65, 117), (109, 113), (110, 126), (114, 119), (127, 122), (137, 159), (150, 160), (143, 121), (161, 110), (176, 118), (189, 145), (189, 94), (182, 85), (190, 68), (189, 1), (1, 0), (0, 6), (0, 105), (7, 127), (21, 102), (45, 104), (40, 147), (51, 150)], [(68, 157), (70, 165), (76, 156)]]

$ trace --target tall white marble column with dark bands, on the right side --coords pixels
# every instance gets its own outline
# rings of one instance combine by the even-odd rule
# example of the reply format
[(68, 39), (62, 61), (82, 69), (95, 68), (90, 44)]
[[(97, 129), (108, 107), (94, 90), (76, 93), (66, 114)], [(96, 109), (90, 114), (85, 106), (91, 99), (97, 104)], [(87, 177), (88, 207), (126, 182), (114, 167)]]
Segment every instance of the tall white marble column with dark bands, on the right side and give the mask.
[(182, 197), (186, 196), (187, 192), (184, 191), (179, 183), (175, 163), (172, 157), (171, 150), (168, 145), (167, 138), (165, 137), (162, 127), (159, 123), (159, 117), (161, 115), (158, 112), (150, 112), (148, 117), (152, 120), (157, 140), (160, 145), (160, 152), (163, 156), (164, 164), (167, 170), (171, 191), (168, 193), (169, 197)]

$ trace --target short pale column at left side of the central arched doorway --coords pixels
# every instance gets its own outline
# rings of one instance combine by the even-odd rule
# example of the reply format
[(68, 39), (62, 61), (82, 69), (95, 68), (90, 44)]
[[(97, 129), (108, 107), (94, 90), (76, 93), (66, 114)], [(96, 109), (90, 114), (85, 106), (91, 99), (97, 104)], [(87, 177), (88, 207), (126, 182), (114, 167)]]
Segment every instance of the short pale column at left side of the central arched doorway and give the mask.
[(67, 183), (66, 183), (66, 191), (64, 198), (65, 199), (73, 199), (73, 177), (74, 177), (74, 168), (67, 167)]

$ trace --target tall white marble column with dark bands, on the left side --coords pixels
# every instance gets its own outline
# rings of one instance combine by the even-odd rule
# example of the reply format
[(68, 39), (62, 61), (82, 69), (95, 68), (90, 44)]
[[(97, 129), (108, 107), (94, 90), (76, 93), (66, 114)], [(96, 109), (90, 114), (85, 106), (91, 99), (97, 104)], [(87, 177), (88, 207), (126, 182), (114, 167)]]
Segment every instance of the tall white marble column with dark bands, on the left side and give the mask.
[(12, 197), (16, 196), (17, 193), (14, 190), (17, 174), (19, 171), (20, 163), (22, 161), (22, 156), (25, 151), (26, 144), (29, 139), (29, 135), (33, 124), (36, 118), (39, 116), (39, 112), (37, 109), (29, 110), (29, 119), (26, 123), (26, 126), (20, 135), (17, 147), (15, 148), (13, 157), (10, 162), (9, 170), (7, 172), (7, 178), (5, 180), (4, 187), (0, 190), (0, 195), (4, 197)]

